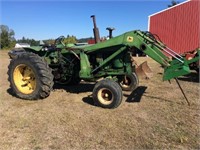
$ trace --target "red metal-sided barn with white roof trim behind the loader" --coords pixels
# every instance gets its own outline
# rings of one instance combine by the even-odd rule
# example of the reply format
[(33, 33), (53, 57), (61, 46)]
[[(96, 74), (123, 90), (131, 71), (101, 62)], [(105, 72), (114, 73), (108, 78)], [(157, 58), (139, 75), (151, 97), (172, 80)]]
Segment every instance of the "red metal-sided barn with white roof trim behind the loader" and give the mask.
[(149, 31), (179, 54), (200, 47), (200, 0), (190, 0), (149, 16)]

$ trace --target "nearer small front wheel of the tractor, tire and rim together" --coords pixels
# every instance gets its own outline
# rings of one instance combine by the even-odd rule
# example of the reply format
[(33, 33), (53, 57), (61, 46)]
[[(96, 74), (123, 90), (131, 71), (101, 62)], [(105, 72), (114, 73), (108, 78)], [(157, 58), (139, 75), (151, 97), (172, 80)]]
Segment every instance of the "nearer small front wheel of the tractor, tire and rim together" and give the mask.
[(112, 80), (101, 80), (93, 89), (95, 104), (103, 108), (117, 108), (122, 102), (122, 89)]

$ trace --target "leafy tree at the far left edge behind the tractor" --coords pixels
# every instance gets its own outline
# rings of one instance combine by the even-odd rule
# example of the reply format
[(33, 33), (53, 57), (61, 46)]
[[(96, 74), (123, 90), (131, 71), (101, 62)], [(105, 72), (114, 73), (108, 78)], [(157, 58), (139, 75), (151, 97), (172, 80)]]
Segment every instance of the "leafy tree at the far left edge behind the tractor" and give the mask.
[(16, 44), (15, 32), (6, 25), (0, 25), (0, 49), (11, 48)]

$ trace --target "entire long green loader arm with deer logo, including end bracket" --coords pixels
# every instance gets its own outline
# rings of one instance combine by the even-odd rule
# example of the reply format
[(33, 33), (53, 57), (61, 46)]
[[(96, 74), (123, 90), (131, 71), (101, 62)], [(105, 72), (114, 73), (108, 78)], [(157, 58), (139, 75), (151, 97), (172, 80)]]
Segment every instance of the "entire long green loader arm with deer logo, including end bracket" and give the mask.
[(105, 42), (86, 47), (84, 51), (85, 53), (92, 53), (108, 49), (109, 47), (112, 49), (115, 47), (126, 47), (130, 50), (141, 50), (164, 68), (164, 81), (189, 74), (189, 64), (199, 60), (199, 55), (192, 60), (186, 60), (156, 39), (150, 32), (140, 30), (126, 32)]

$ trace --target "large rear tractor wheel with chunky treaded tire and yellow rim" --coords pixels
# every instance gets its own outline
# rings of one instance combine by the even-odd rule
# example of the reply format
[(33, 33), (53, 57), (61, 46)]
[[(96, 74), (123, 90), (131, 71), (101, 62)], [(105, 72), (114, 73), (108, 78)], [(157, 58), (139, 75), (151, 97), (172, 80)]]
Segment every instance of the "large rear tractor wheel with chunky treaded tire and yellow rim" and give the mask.
[(8, 80), (13, 94), (27, 100), (46, 98), (53, 87), (53, 75), (47, 62), (28, 52), (11, 60)]

